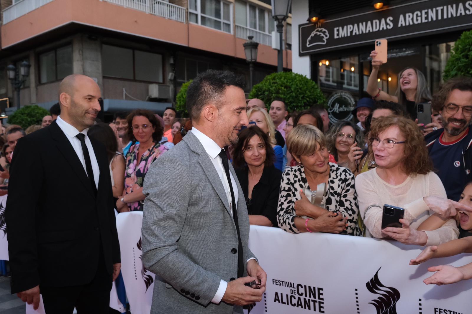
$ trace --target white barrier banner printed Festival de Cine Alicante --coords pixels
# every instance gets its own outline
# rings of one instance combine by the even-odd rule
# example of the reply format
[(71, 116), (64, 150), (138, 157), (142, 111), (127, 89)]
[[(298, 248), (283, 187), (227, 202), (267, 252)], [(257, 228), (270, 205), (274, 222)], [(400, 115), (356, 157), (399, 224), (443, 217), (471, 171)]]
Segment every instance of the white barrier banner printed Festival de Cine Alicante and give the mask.
[(472, 280), (426, 285), (434, 265), (460, 266), (470, 254), (409, 265), (421, 247), (329, 233), (291, 234), (251, 226), (249, 248), (267, 273), (250, 314), (470, 314)]

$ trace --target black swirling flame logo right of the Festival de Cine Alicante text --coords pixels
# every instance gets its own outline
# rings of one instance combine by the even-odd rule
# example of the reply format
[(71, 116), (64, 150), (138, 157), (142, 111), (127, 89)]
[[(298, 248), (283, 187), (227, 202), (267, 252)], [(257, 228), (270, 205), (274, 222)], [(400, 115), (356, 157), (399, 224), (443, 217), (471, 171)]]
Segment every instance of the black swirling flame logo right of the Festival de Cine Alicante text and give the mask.
[(380, 282), (380, 268), (371, 280), (365, 284), (371, 293), (380, 295), (380, 297), (372, 300), (369, 304), (375, 306), (377, 314), (397, 314), (396, 302), (400, 299), (400, 292), (397, 289), (387, 287)]

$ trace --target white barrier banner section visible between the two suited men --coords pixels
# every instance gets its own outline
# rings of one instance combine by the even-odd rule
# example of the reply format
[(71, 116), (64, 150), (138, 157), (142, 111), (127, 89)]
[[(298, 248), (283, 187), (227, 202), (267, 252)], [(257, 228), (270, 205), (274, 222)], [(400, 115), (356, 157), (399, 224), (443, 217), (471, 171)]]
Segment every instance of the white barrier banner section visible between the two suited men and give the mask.
[(143, 212), (120, 213), (116, 216), (119, 247), (121, 251), (121, 274), (125, 282), (126, 297), (133, 314), (151, 312), (154, 274), (143, 266), (141, 249), (141, 226)]

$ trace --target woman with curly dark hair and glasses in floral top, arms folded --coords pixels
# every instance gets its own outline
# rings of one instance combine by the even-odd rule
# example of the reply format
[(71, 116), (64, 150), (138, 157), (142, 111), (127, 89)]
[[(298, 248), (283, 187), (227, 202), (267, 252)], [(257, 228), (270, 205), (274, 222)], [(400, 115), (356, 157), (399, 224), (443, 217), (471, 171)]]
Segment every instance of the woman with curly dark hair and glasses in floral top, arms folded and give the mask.
[(152, 111), (136, 109), (127, 116), (133, 141), (126, 156), (125, 189), (116, 203), (118, 212), (143, 210), (143, 182), (149, 166), (168, 149), (160, 145), (163, 128)]

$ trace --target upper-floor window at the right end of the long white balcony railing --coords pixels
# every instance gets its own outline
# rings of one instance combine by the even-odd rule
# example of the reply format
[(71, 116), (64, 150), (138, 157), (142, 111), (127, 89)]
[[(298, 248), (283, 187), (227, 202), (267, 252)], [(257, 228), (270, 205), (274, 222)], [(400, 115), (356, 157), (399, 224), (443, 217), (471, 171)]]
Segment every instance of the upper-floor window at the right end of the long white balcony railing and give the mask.
[(232, 5), (220, 0), (189, 0), (188, 20), (195, 24), (204, 25), (232, 33)]

